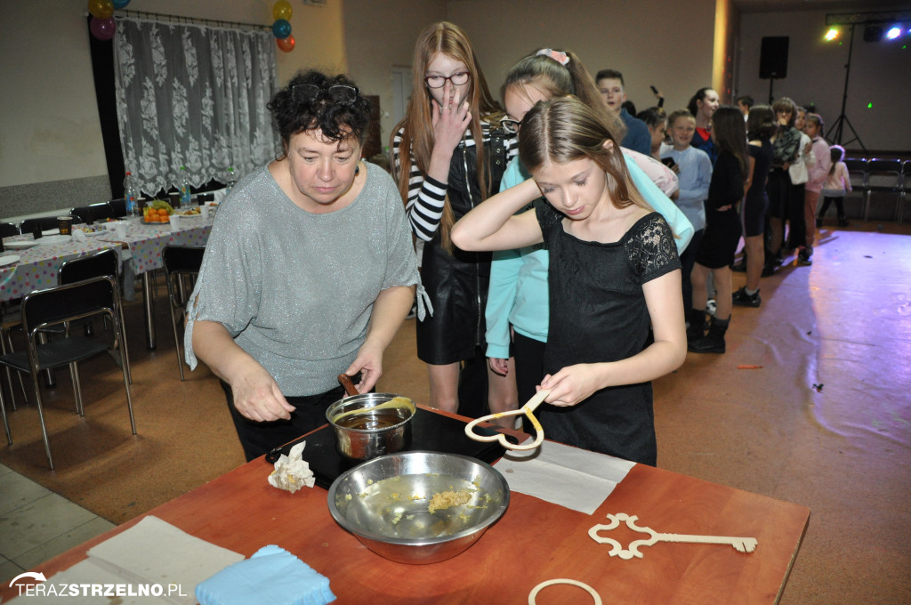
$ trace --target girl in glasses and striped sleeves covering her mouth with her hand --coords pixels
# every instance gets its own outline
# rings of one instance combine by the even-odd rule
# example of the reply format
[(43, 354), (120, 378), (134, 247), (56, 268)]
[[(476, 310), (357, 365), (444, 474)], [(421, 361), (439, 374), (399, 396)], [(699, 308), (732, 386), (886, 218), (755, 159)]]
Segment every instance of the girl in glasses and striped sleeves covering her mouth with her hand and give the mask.
[[(455, 220), (499, 190), (516, 135), (500, 128), (503, 110), (490, 95), (465, 32), (451, 23), (418, 36), (415, 81), (394, 130), (393, 174), (421, 260), (428, 311), (417, 323), (417, 356), (430, 375), (430, 405), (466, 415), (517, 405), (515, 381), (487, 369), (484, 309), (490, 252), (468, 252), (449, 239)], [(478, 145), (477, 141), (481, 141)], [(460, 397), (461, 395), (461, 397)], [(459, 400), (462, 407), (459, 407)], [(476, 408), (466, 407), (475, 403)]]

